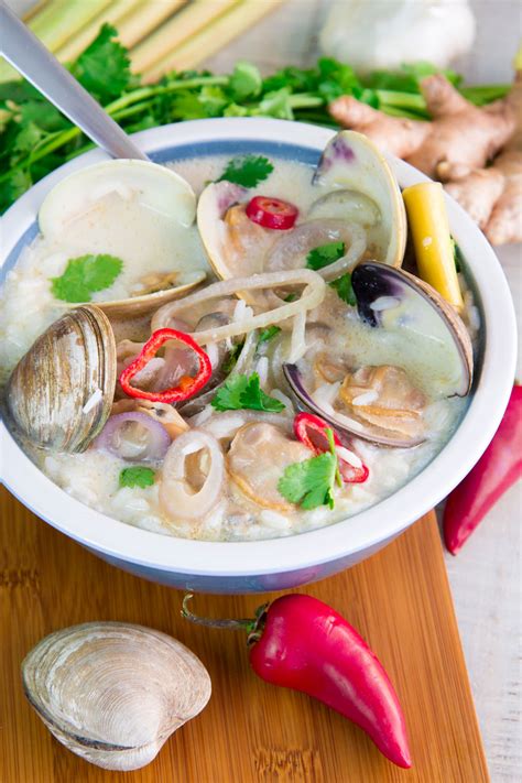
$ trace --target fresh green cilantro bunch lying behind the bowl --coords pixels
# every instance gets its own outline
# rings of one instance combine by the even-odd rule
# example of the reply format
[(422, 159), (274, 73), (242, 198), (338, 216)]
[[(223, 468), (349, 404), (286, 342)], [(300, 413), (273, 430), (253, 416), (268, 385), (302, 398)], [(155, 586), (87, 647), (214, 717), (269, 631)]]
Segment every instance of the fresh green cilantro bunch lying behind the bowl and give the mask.
[[(240, 61), (229, 75), (173, 72), (155, 84), (142, 85), (139, 76), (131, 74), (129, 53), (109, 24), (100, 28), (68, 67), (128, 133), (207, 117), (276, 117), (335, 128), (328, 104), (341, 95), (394, 116), (425, 119), (418, 84), (437, 72), (429, 63), (418, 63), (396, 73), (360, 78), (349, 65), (322, 57), (312, 68), (287, 67), (262, 78), (255, 65)], [(446, 75), (458, 83), (456, 74)], [(508, 89), (509, 85), (493, 85), (461, 91), (468, 100), (482, 105)], [(0, 84), (0, 211), (33, 183), (91, 146), (79, 129), (26, 81)]]

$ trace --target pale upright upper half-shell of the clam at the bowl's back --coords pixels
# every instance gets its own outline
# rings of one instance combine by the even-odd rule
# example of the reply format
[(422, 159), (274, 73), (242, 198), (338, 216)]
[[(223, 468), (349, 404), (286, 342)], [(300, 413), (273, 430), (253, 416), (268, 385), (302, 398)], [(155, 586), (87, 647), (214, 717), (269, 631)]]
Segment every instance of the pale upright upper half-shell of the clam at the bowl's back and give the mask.
[(362, 133), (340, 131), (326, 145), (314, 184), (323, 195), (311, 217), (346, 215), (368, 231), (371, 257), (400, 267), (406, 244), (406, 214), (399, 184), (383, 155)]

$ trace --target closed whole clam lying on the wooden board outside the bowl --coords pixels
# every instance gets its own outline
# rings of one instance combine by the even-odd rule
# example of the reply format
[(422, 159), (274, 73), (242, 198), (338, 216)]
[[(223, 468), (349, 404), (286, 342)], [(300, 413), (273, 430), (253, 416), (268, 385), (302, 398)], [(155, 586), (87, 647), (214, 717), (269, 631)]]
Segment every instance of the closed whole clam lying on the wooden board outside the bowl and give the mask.
[(22, 663), (25, 695), (70, 751), (107, 770), (135, 770), (210, 697), (199, 659), (165, 633), (88, 622), (43, 639)]

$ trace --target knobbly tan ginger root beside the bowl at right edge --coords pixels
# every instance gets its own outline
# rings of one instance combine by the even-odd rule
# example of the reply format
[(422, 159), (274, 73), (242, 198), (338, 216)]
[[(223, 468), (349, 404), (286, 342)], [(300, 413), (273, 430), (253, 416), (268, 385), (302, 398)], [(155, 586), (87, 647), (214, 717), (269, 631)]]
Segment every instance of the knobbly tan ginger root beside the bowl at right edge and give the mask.
[(441, 74), (423, 79), (421, 90), (429, 122), (390, 117), (350, 96), (337, 98), (329, 111), (341, 126), (446, 183), (492, 244), (522, 241), (522, 72), (509, 96), (480, 108)]

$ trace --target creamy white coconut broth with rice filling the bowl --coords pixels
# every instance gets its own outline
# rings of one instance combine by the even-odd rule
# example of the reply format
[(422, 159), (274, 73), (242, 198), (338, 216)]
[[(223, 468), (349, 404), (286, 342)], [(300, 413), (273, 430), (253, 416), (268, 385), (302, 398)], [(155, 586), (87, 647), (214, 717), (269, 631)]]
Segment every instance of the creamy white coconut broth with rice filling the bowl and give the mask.
[[(168, 165), (186, 178), (199, 195), (206, 183), (219, 177), (228, 160), (228, 156), (219, 155)], [(249, 196), (259, 193), (283, 198), (297, 206), (301, 214), (306, 214), (317, 198), (317, 188), (311, 187), (313, 170), (287, 160), (274, 159), (273, 163), (274, 171), (270, 177), (250, 191)], [(63, 306), (52, 296), (48, 279), (61, 275), (69, 258), (96, 252), (121, 258), (124, 272), (110, 289), (94, 294), (93, 302), (121, 298), (132, 294), (135, 280), (144, 270), (171, 269), (172, 257), (165, 252), (165, 247), (172, 239), (171, 232), (177, 230), (177, 253), (184, 270), (188, 273), (203, 269), (208, 274), (207, 281), (214, 280), (195, 226), (180, 231), (166, 226), (161, 216), (150, 211), (137, 217), (135, 208), (122, 203), (118, 196), (106, 196), (105, 199), (108, 199), (107, 209), (97, 213), (96, 220), (93, 215), (84, 216), (67, 229), (64, 237), (53, 242), (36, 238), (8, 273), (0, 292), (0, 366), (3, 380), (34, 338), (63, 313)], [(118, 227), (116, 231), (115, 225)], [(327, 507), (289, 513), (260, 509), (233, 483), (227, 482), (225, 497), (208, 518), (197, 523), (174, 523), (162, 514), (157, 482), (145, 488), (119, 488), (119, 474), (122, 468), (129, 467), (129, 463), (91, 448), (83, 454), (51, 454), (30, 446), (26, 450), (53, 481), (79, 501), (129, 524), (164, 534), (208, 540), (254, 540), (313, 530), (358, 513), (399, 489), (432, 460), (456, 428), (467, 401), (459, 398), (438, 399), (437, 394), (432, 394), (433, 379), (427, 365), (420, 360), (415, 336), (406, 345), (387, 335), (377, 336), (374, 329), (358, 319), (355, 309), (347, 314), (344, 303), (328, 286), (324, 302), (308, 314), (308, 319), (331, 328), (328, 348), (334, 354), (349, 355), (356, 366), (388, 363), (402, 367), (429, 400), (425, 413), (429, 437), (421, 446), (399, 449), (377, 447), (359, 439), (356, 442), (357, 454), (368, 466), (370, 478), (361, 485), (349, 485), (342, 493), (337, 493), (333, 511)], [(268, 377), (265, 390), (272, 393), (279, 385), (281, 373), (276, 368), (267, 372), (267, 357), (270, 358), (271, 348), (268, 347), (262, 354), (264, 356), (258, 357), (258, 366), (254, 365), (252, 370)], [(313, 355), (312, 347), (309, 358)], [(308, 356), (301, 362), (305, 372), (307, 362)], [(290, 405), (284, 394), (280, 394), (280, 399)], [(202, 414), (200, 426), (205, 426), (205, 416), (211, 413), (210, 409)]]

